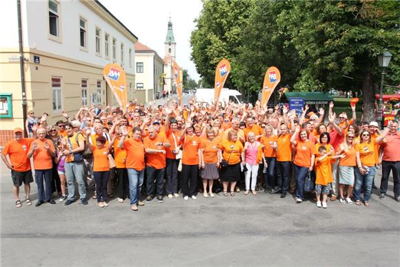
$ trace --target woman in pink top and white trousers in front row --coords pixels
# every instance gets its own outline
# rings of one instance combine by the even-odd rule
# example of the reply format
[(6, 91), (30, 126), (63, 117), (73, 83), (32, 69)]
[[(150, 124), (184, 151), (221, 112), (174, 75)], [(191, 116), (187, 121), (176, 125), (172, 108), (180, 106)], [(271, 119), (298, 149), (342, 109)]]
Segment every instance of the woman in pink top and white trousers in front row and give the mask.
[[(247, 142), (244, 144), (242, 158), (243, 168), (245, 170), (246, 190), (244, 195), (248, 195), (249, 190), (252, 190), (252, 195), (257, 195), (256, 184), (257, 174), (259, 172), (259, 163), (263, 159), (263, 148), (259, 141), (256, 141), (254, 132), (249, 132), (247, 135)], [(264, 164), (267, 164), (264, 159)], [(251, 187), (250, 187), (251, 179)]]

